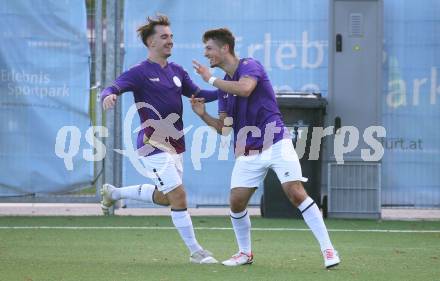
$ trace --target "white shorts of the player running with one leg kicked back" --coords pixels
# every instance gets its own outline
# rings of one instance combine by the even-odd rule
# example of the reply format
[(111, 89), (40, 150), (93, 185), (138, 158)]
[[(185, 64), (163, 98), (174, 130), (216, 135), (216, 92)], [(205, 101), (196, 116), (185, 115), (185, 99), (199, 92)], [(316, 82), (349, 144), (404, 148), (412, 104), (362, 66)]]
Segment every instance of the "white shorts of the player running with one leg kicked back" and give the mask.
[(161, 152), (142, 157), (142, 163), (148, 169), (148, 175), (155, 182), (157, 189), (164, 194), (182, 184), (183, 154)]

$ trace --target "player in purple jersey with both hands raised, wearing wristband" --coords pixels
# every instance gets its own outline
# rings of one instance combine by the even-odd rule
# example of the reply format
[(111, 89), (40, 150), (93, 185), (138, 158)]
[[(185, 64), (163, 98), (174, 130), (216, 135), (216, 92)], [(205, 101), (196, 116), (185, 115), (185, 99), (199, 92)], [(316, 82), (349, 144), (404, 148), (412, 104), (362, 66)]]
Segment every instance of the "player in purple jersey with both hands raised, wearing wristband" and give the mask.
[[(235, 39), (225, 28), (203, 35), (205, 57), (211, 67), (219, 67), (224, 79), (211, 76), (209, 69), (194, 61), (194, 68), (209, 84), (218, 88), (219, 119), (205, 111), (202, 98), (192, 98), (194, 112), (219, 133), (234, 132), (236, 161), (231, 177), (231, 222), (239, 246), (237, 254), (223, 262), (227, 266), (253, 262), (251, 222), (246, 210), (249, 199), (269, 168), (281, 181), (289, 200), (304, 217), (318, 240), (326, 268), (339, 264), (321, 212), (303, 185), (301, 166), (291, 138), (284, 126), (275, 93), (263, 66), (255, 59), (239, 59), (234, 53)], [(226, 127), (229, 127), (225, 130)]]

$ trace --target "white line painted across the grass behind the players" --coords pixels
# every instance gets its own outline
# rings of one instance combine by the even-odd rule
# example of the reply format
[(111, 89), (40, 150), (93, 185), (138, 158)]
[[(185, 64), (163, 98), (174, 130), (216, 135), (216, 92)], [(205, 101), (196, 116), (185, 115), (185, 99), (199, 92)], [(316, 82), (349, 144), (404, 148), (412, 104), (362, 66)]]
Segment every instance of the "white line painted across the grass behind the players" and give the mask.
[[(61, 230), (175, 230), (172, 226), (0, 226), (2, 229), (61, 229)], [(196, 230), (232, 230), (231, 227), (194, 227)], [(261, 228), (252, 231), (310, 231), (308, 228)], [(373, 232), (373, 233), (440, 233), (440, 230), (405, 229), (329, 229), (330, 232)]]

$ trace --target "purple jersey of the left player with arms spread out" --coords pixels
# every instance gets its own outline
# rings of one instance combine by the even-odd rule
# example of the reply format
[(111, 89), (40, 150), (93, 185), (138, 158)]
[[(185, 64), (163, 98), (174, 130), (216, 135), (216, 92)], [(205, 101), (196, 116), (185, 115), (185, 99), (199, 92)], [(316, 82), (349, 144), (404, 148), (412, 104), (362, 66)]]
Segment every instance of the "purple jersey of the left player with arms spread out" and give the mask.
[(175, 63), (168, 63), (162, 68), (146, 60), (122, 73), (112, 86), (103, 91), (101, 100), (110, 94), (120, 95), (129, 91), (133, 92), (135, 103), (147, 104), (147, 107), (138, 107), (143, 124), (137, 138), (137, 148), (142, 147), (141, 155), (162, 151), (184, 152), (182, 95), (191, 97), (200, 92), (188, 73)]

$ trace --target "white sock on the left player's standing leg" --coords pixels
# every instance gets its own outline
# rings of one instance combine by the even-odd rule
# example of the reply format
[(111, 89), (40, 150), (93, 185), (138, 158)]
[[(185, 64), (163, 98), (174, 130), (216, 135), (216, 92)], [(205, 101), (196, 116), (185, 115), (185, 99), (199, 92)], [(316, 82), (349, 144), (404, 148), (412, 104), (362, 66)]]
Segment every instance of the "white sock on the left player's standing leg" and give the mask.
[(194, 234), (194, 228), (188, 211), (186, 209), (178, 211), (171, 209), (171, 219), (190, 253), (193, 254), (194, 252), (201, 250), (202, 247), (196, 240), (196, 235)]

